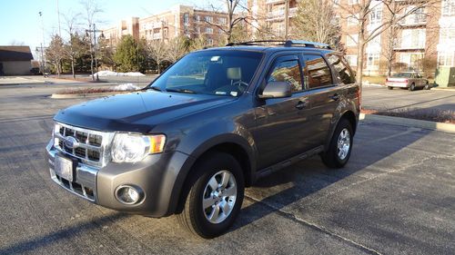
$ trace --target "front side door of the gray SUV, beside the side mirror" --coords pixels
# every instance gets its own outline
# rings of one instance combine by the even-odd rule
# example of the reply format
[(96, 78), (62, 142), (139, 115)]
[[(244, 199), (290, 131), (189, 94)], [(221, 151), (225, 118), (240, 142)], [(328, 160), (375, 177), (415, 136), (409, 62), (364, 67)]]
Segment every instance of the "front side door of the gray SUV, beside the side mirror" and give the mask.
[(266, 168), (312, 148), (309, 96), (302, 83), (302, 65), (297, 54), (282, 55), (268, 68), (263, 81), (287, 82), (289, 98), (267, 99), (255, 109), (257, 128), (253, 132), (258, 147), (258, 168)]

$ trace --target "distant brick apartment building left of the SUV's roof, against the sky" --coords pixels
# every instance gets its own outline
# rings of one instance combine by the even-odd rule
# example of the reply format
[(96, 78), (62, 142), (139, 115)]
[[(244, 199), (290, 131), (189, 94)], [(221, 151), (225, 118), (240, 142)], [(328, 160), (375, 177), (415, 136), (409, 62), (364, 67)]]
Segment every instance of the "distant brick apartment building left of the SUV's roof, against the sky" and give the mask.
[(166, 12), (144, 18), (132, 17), (118, 25), (103, 30), (108, 42), (115, 46), (126, 34), (134, 38), (163, 40), (167, 42), (178, 36), (197, 38), (203, 36), (207, 45), (223, 44), (224, 32), (219, 26), (227, 27), (227, 14), (199, 10), (193, 6), (176, 5)]

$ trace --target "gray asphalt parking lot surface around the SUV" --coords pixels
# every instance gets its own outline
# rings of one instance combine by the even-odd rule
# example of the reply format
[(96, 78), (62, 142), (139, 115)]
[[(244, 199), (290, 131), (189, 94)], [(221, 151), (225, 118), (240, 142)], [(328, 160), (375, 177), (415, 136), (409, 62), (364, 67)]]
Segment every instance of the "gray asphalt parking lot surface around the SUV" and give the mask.
[[(61, 87), (0, 87), (0, 254), (454, 253), (453, 133), (360, 123), (347, 167), (330, 170), (313, 157), (268, 176), (246, 191), (227, 234), (201, 240), (174, 217), (111, 211), (50, 180), (52, 116), (85, 101), (47, 97)], [(401, 93), (368, 88), (364, 105), (397, 103), (382, 90)], [(453, 93), (411, 96), (430, 93), (453, 109)]]

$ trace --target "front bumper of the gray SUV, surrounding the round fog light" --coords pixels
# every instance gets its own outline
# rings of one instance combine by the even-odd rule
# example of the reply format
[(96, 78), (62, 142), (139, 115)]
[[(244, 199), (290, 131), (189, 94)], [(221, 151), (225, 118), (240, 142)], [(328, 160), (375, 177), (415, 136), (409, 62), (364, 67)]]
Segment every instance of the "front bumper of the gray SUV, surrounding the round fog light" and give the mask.
[[(163, 217), (175, 211), (173, 191), (177, 176), (187, 162), (182, 152), (163, 152), (147, 156), (142, 162), (108, 162), (98, 168), (77, 162), (73, 181), (67, 181), (54, 171), (56, 154), (53, 140), (46, 146), (51, 179), (60, 187), (87, 201), (116, 211), (133, 212), (150, 217)], [(69, 157), (66, 155), (66, 157)], [(143, 200), (126, 205), (116, 200), (115, 191), (120, 185), (135, 185), (144, 191)]]

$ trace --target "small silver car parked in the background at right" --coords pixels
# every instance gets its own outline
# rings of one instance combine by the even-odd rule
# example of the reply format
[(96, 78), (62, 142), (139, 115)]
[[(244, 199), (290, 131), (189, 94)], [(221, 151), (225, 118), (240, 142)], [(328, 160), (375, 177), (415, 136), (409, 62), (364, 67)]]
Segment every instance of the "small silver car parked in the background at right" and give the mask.
[(416, 88), (424, 88), (429, 90), (430, 83), (422, 75), (417, 73), (397, 73), (386, 79), (386, 86), (389, 90), (396, 88), (407, 88), (414, 91)]

